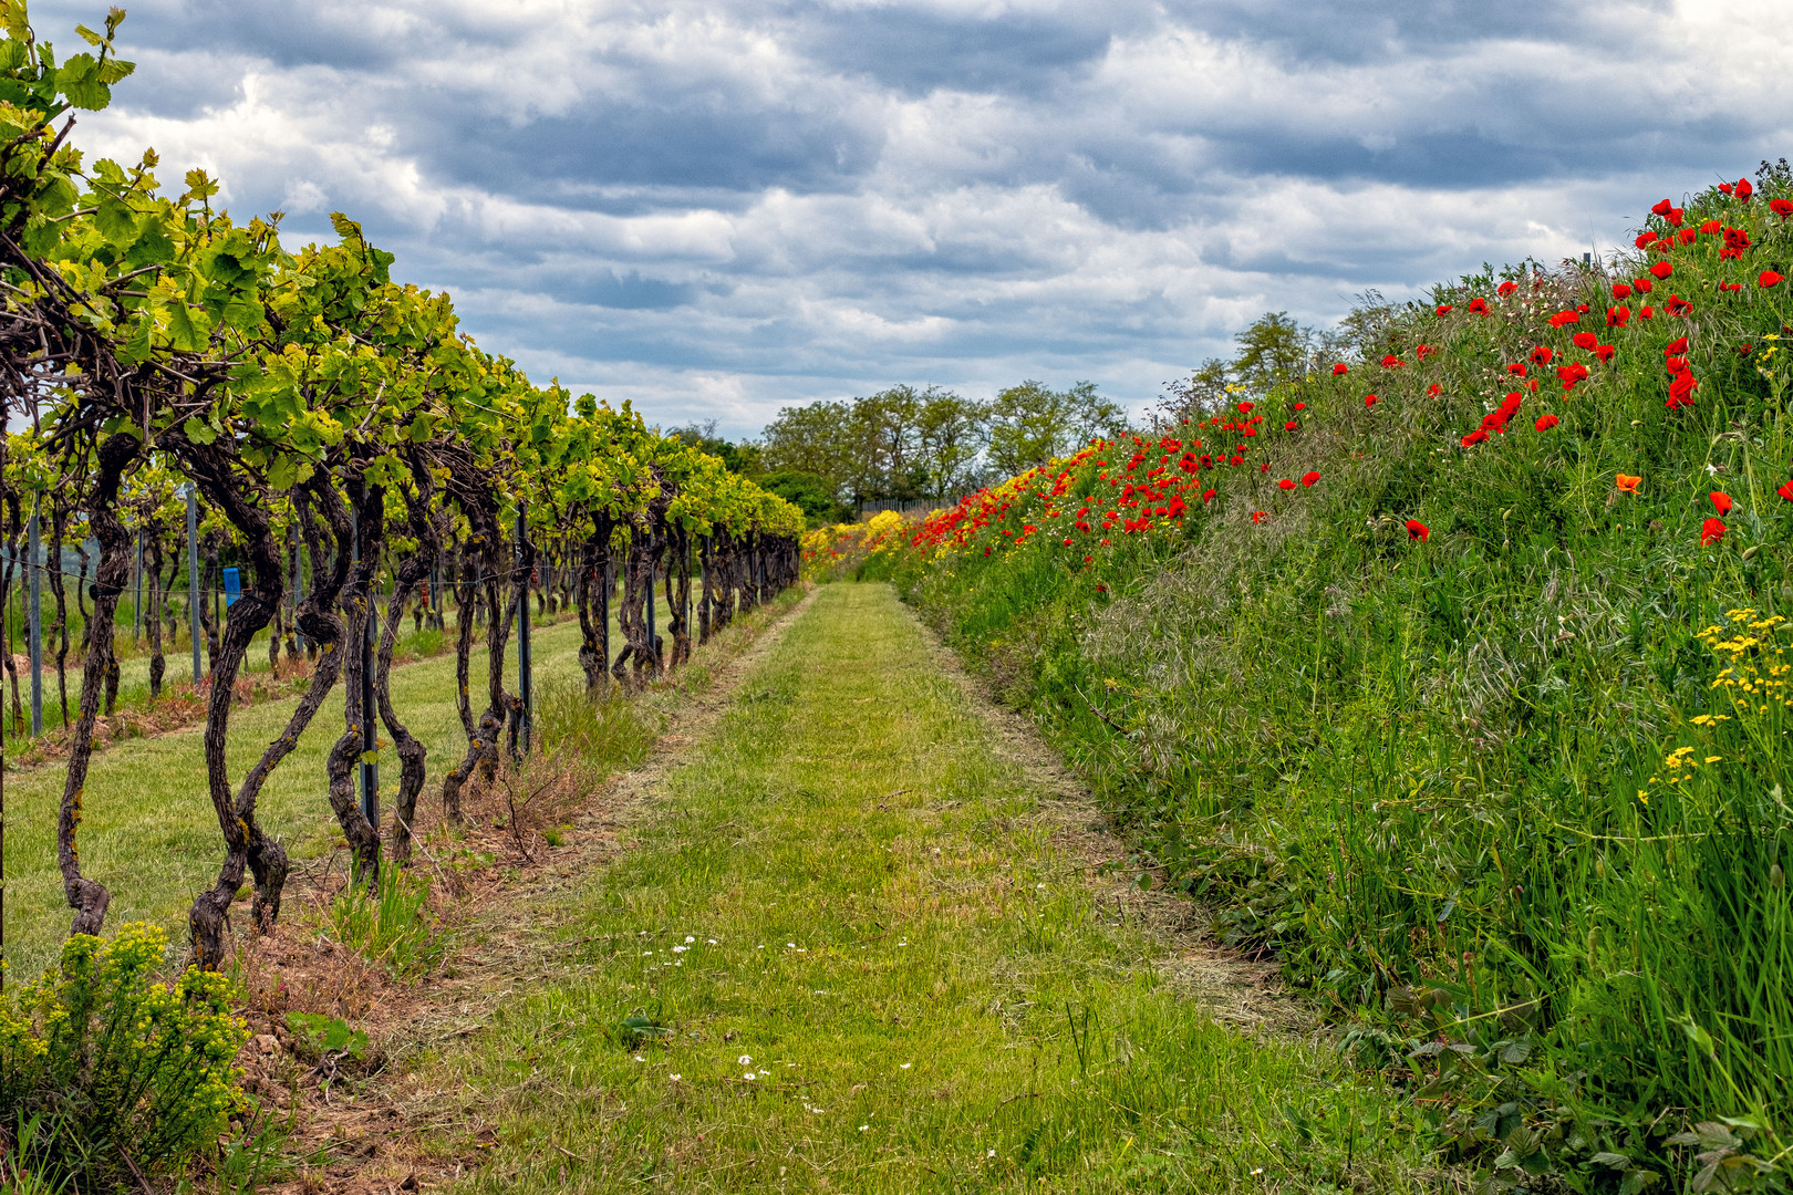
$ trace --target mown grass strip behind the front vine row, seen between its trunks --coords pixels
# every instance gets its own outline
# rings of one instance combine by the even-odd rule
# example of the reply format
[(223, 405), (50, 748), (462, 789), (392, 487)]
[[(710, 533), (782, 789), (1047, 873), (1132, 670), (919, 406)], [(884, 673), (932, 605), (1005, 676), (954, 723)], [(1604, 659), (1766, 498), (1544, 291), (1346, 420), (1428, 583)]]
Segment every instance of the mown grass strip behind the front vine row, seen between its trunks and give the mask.
[[(533, 645), (540, 684), (583, 684), (577, 622), (536, 629)], [(484, 675), (484, 652), (477, 652), (475, 677)], [(515, 674), (515, 645), (511, 661)], [(452, 652), (393, 670), (393, 706), (429, 749), (421, 803), (439, 799), (443, 774), (466, 751), (454, 693)], [(233, 781), (242, 779), (269, 740), (285, 727), (294, 704), (296, 699), (289, 699), (231, 713), (226, 758)], [(339, 840), (325, 795), (325, 754), (341, 733), (339, 684), (298, 749), (262, 790), (262, 824), (298, 860), (328, 853)], [(382, 808), (389, 819), (398, 760), (391, 749), (382, 754)], [(61, 874), (56, 871), (56, 810), (65, 776), (61, 765), (5, 776), (5, 950), (7, 975), (14, 982), (54, 960), (68, 933), (72, 914), (63, 903)], [(108, 926), (154, 921), (167, 926), (170, 941), (185, 942), (186, 908), (195, 892), (217, 880), (222, 855), (206, 795), (199, 729), (122, 742), (93, 758), (81, 826), (81, 864), (84, 874), (111, 889)]]

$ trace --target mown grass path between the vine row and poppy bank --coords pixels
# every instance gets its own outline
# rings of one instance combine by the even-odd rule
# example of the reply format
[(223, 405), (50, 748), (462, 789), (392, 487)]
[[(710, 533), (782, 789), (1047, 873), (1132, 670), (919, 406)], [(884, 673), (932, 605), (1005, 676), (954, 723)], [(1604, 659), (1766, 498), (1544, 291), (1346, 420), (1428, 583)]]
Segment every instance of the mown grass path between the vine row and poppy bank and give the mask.
[(823, 588), (681, 758), (536, 910), (556, 978), (412, 1077), (479, 1093), (472, 1186), (1420, 1184), (1386, 1095), (1164, 980), (888, 588)]

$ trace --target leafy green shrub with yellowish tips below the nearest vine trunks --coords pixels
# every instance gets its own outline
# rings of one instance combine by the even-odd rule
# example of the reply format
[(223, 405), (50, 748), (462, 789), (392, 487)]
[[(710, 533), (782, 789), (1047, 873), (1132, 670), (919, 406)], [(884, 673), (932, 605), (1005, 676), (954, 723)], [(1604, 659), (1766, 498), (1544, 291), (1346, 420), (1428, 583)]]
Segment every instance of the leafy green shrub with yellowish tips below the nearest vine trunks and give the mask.
[(222, 975), (160, 982), (165, 948), (145, 923), (72, 937), (59, 967), (0, 1003), (0, 1136), (18, 1190), (134, 1184), (133, 1165), (178, 1172), (217, 1147), (249, 1028)]

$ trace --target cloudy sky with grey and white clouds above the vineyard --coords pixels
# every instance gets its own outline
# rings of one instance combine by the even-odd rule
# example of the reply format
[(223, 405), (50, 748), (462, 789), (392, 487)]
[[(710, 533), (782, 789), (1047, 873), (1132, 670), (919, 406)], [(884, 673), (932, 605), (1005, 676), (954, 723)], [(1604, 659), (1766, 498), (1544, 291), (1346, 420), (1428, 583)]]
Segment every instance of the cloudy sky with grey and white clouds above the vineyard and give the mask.
[[(38, 0), (74, 48), (102, 4)], [(1784, 0), (136, 0), (90, 152), (342, 210), (540, 382), (755, 434), (1135, 408), (1264, 310), (1605, 249), (1793, 154)], [(1780, 29), (1777, 34), (1775, 29)], [(65, 50), (65, 52), (68, 52)]]

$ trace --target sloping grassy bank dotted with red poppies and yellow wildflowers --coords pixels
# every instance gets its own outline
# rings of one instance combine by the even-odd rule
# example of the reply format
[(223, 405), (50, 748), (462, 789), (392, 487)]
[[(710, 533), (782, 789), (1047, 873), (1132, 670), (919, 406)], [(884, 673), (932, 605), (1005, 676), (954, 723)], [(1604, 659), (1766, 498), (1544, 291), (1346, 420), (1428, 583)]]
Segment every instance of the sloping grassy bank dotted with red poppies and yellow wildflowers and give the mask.
[(1492, 1190), (1771, 1186), (1789, 272), (1764, 165), (809, 566), (896, 580)]

